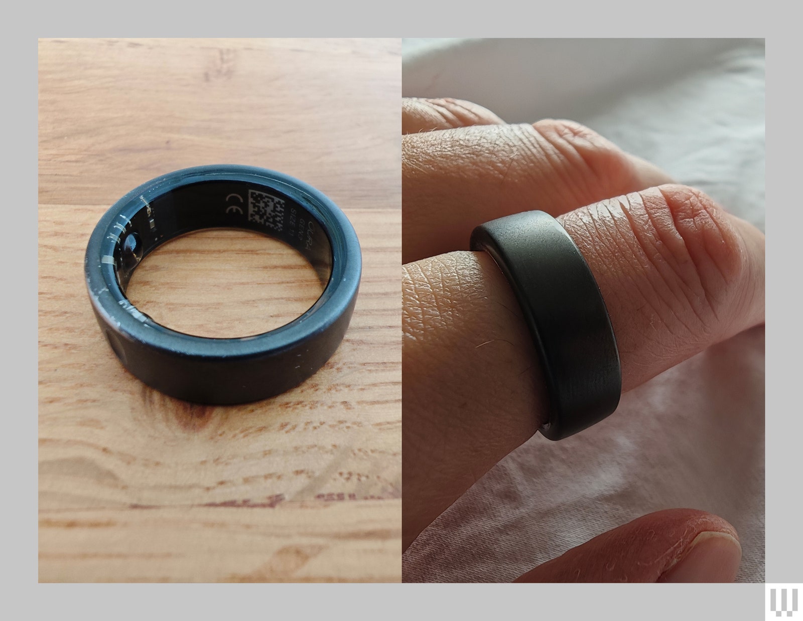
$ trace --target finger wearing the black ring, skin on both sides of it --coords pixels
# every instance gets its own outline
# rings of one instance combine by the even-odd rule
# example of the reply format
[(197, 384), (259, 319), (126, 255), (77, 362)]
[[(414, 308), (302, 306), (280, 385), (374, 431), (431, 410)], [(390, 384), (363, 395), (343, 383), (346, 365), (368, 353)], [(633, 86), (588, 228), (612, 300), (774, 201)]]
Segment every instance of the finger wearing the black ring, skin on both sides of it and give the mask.
[[(605, 299), (624, 391), (764, 321), (764, 235), (694, 189), (661, 186), (559, 220)], [(487, 254), (404, 266), (402, 330), (408, 545), (548, 413), (532, 336)]]

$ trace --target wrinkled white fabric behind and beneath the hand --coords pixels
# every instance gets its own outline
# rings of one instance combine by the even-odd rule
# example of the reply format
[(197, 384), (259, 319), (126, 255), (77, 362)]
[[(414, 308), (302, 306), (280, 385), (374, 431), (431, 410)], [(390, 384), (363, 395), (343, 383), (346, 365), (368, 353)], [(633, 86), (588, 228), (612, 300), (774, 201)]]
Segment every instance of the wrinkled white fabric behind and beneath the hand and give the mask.
[[(763, 40), (407, 39), (402, 51), (405, 96), (579, 121), (764, 229)], [(731, 522), (737, 582), (764, 582), (763, 326), (627, 393), (577, 436), (516, 449), (410, 546), (404, 580), (509, 581), (672, 507)]]

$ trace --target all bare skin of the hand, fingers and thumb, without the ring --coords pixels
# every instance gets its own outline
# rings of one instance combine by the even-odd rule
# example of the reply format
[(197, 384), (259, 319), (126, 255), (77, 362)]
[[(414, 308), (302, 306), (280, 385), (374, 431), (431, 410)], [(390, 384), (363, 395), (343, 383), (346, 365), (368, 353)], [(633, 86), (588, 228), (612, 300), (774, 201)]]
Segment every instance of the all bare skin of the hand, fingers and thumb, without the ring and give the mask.
[[(402, 119), (406, 549), (547, 419), (518, 303), (493, 260), (467, 250), (471, 229), (528, 209), (560, 221), (605, 299), (623, 391), (764, 322), (764, 235), (571, 121), (507, 125), (451, 99), (405, 100)], [(520, 579), (728, 582), (740, 554), (721, 517), (673, 509)]]

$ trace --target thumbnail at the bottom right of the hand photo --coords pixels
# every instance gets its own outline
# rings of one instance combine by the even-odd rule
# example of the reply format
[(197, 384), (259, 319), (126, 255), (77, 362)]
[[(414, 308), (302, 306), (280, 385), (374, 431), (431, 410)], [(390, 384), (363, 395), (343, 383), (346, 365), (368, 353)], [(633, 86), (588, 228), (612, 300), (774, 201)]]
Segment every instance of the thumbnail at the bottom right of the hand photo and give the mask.
[(741, 558), (742, 547), (735, 538), (706, 531), (694, 538), (658, 582), (733, 582)]

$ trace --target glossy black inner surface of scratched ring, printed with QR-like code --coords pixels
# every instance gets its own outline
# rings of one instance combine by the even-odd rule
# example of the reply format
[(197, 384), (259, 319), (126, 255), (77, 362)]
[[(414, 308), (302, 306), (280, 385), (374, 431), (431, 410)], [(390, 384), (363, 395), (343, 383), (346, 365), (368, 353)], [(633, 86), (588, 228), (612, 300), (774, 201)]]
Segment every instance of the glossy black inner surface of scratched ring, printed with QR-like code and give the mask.
[(278, 190), (247, 181), (199, 181), (161, 194), (127, 223), (116, 223), (115, 274), (125, 293), (143, 258), (173, 237), (198, 229), (235, 228), (265, 233), (300, 252), (326, 287), (332, 275), (332, 244), (308, 209)]

